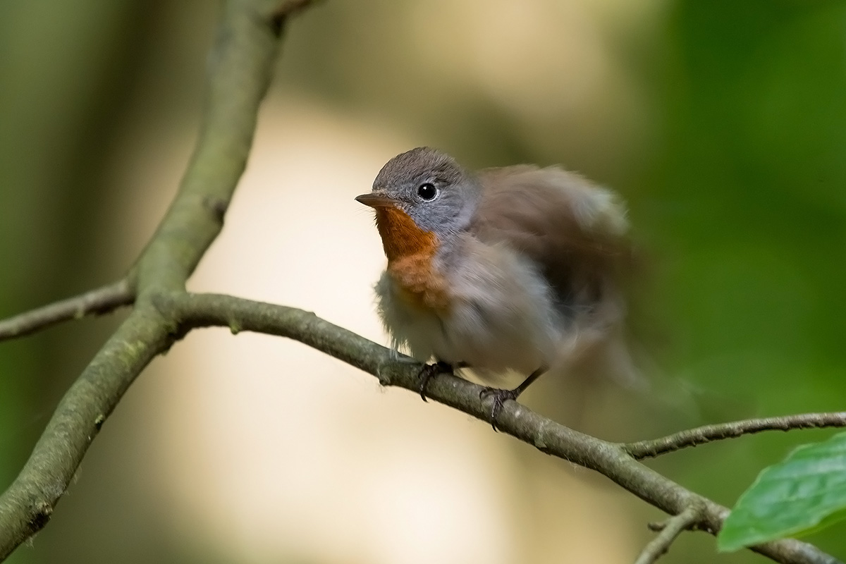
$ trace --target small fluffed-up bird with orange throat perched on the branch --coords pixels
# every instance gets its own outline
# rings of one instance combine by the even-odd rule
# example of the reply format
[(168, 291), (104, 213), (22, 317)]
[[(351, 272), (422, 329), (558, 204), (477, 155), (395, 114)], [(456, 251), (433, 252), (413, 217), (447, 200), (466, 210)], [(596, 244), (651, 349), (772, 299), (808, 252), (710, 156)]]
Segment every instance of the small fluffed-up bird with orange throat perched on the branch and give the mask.
[[(525, 375), (514, 389), (486, 387), (496, 429), (503, 402), (548, 370), (596, 355), (629, 370), (621, 277), (631, 262), (617, 195), (559, 167), (469, 172), (418, 147), (382, 167), (369, 194), (387, 269), (378, 313), (395, 348), (432, 376), (459, 368), (483, 381)], [(622, 359), (622, 361), (620, 360)]]

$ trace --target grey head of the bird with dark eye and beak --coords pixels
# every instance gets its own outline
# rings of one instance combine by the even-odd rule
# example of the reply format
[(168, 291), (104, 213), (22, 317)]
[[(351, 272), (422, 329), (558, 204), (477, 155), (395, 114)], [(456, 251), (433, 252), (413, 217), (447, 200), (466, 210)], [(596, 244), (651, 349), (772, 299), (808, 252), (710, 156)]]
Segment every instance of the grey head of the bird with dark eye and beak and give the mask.
[(470, 224), (480, 195), (478, 180), (453, 157), (418, 147), (388, 161), (376, 175), (373, 191), (356, 200), (377, 209), (393, 206), (421, 230), (444, 238)]

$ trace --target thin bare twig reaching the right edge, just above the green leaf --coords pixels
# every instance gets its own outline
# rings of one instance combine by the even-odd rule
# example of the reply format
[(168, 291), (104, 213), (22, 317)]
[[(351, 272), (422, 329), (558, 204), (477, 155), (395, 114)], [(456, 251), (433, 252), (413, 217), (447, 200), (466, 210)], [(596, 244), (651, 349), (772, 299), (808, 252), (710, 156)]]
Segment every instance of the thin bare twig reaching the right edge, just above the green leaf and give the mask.
[(630, 442), (622, 445), (626, 452), (638, 460), (657, 457), (667, 452), (678, 451), (688, 446), (701, 445), (711, 441), (733, 439), (768, 430), (788, 431), (794, 429), (821, 429), (823, 427), (846, 427), (846, 411), (832, 413), (800, 413), (783, 417), (744, 419), (730, 423), (719, 423), (696, 427), (650, 441)]

